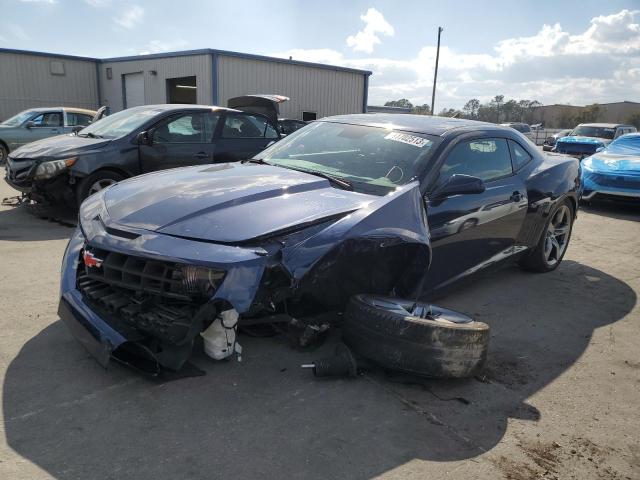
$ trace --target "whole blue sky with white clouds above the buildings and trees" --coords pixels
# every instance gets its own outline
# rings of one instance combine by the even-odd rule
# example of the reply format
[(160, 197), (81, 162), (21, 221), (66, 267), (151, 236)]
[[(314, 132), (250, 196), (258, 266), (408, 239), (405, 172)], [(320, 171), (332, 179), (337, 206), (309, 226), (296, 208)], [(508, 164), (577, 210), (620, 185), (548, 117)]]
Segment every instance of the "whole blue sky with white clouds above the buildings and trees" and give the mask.
[(640, 101), (640, 0), (0, 0), (0, 12), (4, 48), (216, 48), (370, 70), (370, 105), (431, 102), (442, 26), (437, 111), (495, 95)]

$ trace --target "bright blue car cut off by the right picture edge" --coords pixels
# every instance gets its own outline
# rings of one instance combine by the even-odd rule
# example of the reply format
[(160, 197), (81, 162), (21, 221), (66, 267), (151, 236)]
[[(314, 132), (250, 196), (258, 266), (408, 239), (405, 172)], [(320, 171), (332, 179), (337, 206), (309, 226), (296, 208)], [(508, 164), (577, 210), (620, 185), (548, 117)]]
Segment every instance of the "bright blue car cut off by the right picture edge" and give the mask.
[(640, 198), (640, 133), (624, 135), (582, 161), (582, 199)]

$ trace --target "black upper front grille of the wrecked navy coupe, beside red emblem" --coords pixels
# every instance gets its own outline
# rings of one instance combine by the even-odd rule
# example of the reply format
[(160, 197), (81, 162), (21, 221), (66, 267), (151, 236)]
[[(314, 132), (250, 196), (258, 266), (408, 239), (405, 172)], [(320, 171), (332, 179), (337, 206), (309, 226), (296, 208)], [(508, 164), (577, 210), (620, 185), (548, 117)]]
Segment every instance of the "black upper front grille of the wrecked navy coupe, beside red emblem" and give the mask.
[(82, 262), (84, 273), (90, 279), (163, 298), (191, 300), (180, 265), (96, 248), (89, 252), (97, 260), (95, 266)]

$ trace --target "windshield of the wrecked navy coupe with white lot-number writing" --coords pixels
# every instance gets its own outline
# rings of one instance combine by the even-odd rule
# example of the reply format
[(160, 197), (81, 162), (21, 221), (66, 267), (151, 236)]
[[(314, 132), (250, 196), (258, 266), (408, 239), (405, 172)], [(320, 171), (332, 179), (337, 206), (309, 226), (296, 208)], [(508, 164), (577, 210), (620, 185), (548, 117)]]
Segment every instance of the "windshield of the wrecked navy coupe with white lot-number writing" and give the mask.
[(356, 191), (384, 194), (416, 178), (435, 142), (436, 137), (420, 133), (314, 122), (256, 158), (346, 180)]

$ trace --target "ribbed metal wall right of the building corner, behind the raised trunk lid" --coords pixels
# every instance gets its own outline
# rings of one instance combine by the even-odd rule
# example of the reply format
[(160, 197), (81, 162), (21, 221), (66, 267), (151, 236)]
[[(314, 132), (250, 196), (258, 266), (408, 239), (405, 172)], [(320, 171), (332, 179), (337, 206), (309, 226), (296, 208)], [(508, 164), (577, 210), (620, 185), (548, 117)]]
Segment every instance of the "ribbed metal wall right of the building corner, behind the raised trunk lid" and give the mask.
[(220, 55), (219, 105), (254, 93), (289, 97), (280, 107), (282, 117), (302, 119), (303, 111), (316, 112), (317, 118), (362, 113), (364, 78), (355, 72)]

